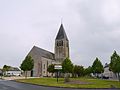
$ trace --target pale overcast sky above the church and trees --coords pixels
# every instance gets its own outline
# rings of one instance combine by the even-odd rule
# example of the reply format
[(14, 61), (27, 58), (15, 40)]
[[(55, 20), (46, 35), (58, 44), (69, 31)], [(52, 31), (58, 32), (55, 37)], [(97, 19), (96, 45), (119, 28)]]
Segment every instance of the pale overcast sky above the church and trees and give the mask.
[(120, 54), (120, 0), (0, 0), (0, 67), (19, 67), (34, 45), (54, 52), (61, 22), (74, 64)]

